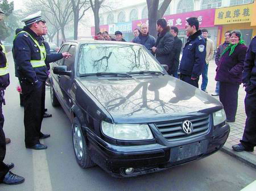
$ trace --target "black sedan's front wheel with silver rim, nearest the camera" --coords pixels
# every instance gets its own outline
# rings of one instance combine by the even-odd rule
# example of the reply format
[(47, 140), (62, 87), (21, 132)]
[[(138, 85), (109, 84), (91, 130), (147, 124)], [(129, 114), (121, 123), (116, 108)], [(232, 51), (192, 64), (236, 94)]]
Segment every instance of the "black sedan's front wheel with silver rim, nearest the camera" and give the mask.
[(72, 123), (72, 140), (76, 161), (82, 168), (93, 167), (95, 164), (90, 159), (88, 147), (86, 145), (84, 134), (82, 133), (81, 124), (77, 117)]

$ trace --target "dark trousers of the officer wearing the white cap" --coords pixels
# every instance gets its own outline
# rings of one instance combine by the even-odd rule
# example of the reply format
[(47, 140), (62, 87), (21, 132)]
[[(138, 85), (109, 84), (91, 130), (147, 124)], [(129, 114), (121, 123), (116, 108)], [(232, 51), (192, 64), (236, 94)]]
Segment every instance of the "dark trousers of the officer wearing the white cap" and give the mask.
[(43, 86), (44, 82), (32, 84), (20, 82), (24, 97), (24, 126), (26, 146), (36, 145), (39, 142), (43, 120)]

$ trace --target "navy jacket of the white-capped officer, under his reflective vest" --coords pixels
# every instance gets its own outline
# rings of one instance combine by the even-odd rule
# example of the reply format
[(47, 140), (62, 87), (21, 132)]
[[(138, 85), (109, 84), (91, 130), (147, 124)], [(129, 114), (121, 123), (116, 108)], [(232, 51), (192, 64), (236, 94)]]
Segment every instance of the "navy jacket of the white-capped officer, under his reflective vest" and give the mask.
[[(42, 37), (36, 35), (30, 28), (24, 27), (39, 45), (43, 45)], [(14, 60), (17, 66), (19, 80), (34, 84), (37, 80), (45, 81), (48, 78), (47, 66), (32, 67), (31, 60), (41, 60), (40, 49), (27, 33), (19, 33), (14, 39)], [(46, 55), (47, 62), (47, 55)]]

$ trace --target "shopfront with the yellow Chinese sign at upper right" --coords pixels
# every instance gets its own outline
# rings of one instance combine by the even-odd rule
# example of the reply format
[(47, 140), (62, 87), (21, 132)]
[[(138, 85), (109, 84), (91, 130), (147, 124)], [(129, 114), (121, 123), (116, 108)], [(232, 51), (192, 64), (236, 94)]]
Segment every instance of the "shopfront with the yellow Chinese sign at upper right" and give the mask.
[(254, 26), (251, 23), (252, 20), (255, 20), (255, 17), (252, 17), (254, 6), (255, 3), (250, 3), (216, 9), (214, 24), (220, 28), (218, 31), (218, 44), (223, 43), (226, 31), (234, 29), (242, 32), (243, 40), (247, 46), (250, 44), (252, 37), (256, 35), (256, 23)]

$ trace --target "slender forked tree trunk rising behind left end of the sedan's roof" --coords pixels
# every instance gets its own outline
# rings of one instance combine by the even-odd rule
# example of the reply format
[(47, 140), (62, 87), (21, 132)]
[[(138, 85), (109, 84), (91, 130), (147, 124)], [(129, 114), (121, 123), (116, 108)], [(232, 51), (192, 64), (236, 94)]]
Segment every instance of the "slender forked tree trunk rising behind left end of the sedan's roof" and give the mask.
[[(90, 9), (90, 2), (89, 0), (71, 0), (72, 2), (72, 10), (73, 10), (73, 17), (74, 17), (74, 40), (77, 40), (78, 34), (78, 24), (79, 21), (85, 14), (85, 11)], [(81, 15), (80, 12), (82, 11)]]

